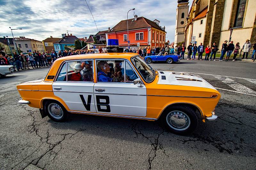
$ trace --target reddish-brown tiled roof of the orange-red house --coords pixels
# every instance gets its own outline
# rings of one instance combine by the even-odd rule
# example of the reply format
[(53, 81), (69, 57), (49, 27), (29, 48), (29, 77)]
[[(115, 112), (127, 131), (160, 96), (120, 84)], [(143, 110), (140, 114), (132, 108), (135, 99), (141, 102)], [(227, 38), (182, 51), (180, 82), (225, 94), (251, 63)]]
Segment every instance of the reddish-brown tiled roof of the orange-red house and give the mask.
[[(136, 21), (134, 21), (134, 18), (128, 19), (128, 25), (129, 25), (129, 29), (154, 27), (162, 30), (161, 27), (159, 27), (155, 22), (144, 17), (138, 17)], [(127, 19), (120, 21), (109, 32), (124, 31), (124, 30), (127, 30)]]

